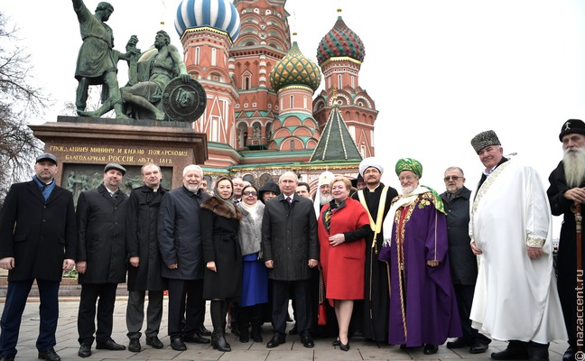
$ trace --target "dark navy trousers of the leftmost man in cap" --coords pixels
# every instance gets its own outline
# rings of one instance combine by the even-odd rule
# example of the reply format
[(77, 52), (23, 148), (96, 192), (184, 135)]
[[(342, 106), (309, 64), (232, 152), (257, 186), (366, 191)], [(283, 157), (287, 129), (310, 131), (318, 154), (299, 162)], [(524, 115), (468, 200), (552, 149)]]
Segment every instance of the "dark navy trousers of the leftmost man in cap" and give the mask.
[[(26, 299), (31, 292), (34, 280), (8, 282), (5, 307), (2, 312), (0, 327), (0, 356), (14, 357), (16, 355), (16, 344), (20, 332), (23, 311), (26, 306)], [(41, 305), (39, 306), (39, 337), (36, 347), (39, 351), (46, 351), (56, 345), (55, 332), (57, 330), (57, 319), (59, 319), (59, 282), (37, 280)]]

